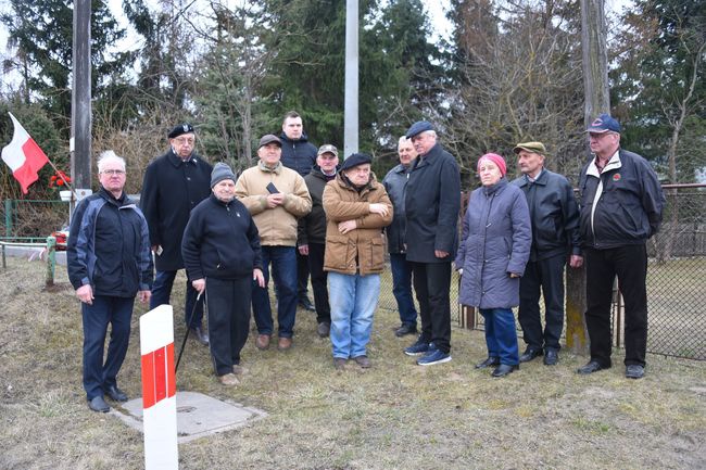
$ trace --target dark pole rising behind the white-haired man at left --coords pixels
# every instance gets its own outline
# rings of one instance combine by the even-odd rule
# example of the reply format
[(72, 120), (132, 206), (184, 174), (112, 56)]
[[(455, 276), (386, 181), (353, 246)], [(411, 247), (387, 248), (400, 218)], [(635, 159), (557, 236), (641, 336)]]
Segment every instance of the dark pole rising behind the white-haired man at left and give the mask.
[[(71, 100), (71, 177), (74, 188), (91, 187), (91, 0), (74, 0)], [(72, 199), (72, 204), (75, 201)], [(70, 211), (71, 212), (71, 211)]]

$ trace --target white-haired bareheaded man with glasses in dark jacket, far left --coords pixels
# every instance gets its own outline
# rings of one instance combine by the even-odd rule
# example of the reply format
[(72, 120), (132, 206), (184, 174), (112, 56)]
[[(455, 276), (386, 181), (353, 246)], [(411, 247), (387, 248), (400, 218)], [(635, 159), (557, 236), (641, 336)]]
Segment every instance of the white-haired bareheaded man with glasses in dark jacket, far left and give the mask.
[[(123, 191), (125, 161), (103, 152), (98, 178), (100, 191), (83, 200), (73, 215), (66, 259), (68, 279), (81, 302), (88, 406), (106, 412), (104, 394), (127, 401), (116, 377), (127, 354), (135, 296), (150, 300), (152, 254), (144, 216)], [(108, 323), (111, 341), (103, 361)]]

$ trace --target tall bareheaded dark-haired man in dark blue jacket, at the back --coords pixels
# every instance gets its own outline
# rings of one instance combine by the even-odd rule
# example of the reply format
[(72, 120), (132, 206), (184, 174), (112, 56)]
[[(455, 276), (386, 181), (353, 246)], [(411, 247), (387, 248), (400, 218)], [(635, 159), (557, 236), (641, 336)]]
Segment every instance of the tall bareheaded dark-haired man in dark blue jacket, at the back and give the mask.
[[(295, 111), (290, 111), (282, 120), (282, 134), (279, 137), (282, 142), (282, 157), (280, 162), (287, 168), (299, 173), (302, 178), (312, 172), (316, 165), (316, 145), (308, 141), (304, 132), (302, 116)], [(308, 261), (306, 255), (297, 251), (297, 295), (299, 305), (308, 312), (316, 308), (308, 298)]]

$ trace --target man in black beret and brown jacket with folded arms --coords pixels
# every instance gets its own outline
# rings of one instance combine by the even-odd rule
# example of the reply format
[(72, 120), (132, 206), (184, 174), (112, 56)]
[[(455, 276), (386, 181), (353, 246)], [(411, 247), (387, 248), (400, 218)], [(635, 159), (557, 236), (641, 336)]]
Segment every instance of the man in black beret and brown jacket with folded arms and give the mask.
[(392, 221), (392, 203), (370, 172), (368, 155), (354, 153), (324, 189), (326, 253), (331, 303), (333, 367), (353, 359), (370, 367), (366, 346), (380, 295), (384, 267), (382, 227)]

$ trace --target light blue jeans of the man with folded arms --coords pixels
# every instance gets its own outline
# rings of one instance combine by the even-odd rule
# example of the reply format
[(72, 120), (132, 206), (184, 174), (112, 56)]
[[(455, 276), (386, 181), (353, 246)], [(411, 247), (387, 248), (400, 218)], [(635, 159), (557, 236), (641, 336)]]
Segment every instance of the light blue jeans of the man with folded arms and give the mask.
[(373, 314), (380, 296), (380, 275), (328, 274), (333, 357), (366, 355)]

